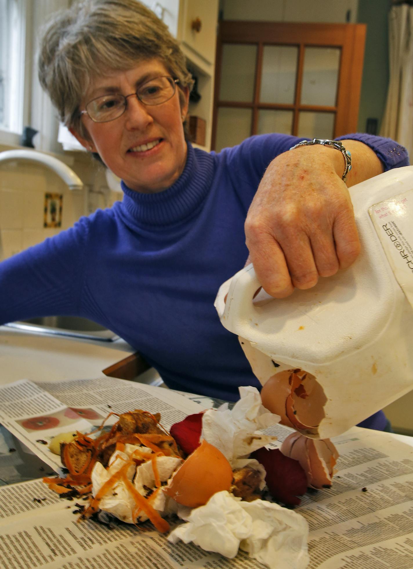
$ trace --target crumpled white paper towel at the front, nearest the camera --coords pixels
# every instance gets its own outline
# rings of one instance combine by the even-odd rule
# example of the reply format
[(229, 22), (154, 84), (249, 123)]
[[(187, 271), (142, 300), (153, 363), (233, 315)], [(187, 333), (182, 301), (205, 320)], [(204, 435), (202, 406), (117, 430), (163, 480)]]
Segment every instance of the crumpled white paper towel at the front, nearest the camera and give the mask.
[(233, 558), (238, 548), (274, 569), (308, 566), (307, 521), (292, 510), (264, 500), (243, 502), (226, 490), (186, 516), (168, 540), (193, 542), (205, 551)]

